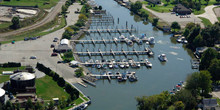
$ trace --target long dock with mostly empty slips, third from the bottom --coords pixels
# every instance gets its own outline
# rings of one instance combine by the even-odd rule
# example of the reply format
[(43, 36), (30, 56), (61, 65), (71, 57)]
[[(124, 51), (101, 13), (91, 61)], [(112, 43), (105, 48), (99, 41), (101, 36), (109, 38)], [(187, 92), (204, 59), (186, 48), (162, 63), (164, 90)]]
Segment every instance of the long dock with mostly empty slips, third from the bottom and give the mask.
[(128, 56), (128, 55), (147, 55), (148, 51), (136, 51), (135, 49), (133, 49), (133, 51), (125, 51), (125, 50), (121, 50), (121, 51), (113, 51), (112, 49), (110, 51), (101, 51), (101, 49), (98, 49), (98, 52), (90, 52), (88, 49), (86, 50), (86, 52), (73, 52), (74, 54), (80, 55), (80, 56), (116, 56), (116, 55), (124, 55), (124, 56)]

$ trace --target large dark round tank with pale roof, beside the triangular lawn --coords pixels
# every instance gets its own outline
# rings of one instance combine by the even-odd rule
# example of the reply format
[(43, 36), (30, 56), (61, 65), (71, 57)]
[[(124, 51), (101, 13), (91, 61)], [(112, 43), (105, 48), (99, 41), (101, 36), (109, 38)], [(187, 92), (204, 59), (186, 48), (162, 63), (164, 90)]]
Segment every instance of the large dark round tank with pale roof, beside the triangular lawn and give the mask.
[(35, 87), (35, 75), (28, 72), (18, 72), (10, 76), (11, 88), (16, 92), (25, 92), (27, 87)]

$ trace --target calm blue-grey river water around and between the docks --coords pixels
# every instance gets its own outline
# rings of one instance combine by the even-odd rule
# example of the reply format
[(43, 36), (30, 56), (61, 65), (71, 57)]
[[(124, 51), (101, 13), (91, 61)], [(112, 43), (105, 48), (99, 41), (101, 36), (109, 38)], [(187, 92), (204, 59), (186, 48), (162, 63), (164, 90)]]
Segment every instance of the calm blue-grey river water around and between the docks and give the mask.
[[(96, 82), (96, 87), (88, 86), (84, 88), (82, 86), (76, 85), (82, 90), (86, 95), (90, 96), (92, 99), (92, 104), (88, 107), (89, 110), (135, 110), (136, 100), (135, 97), (143, 95), (153, 95), (158, 94), (164, 90), (170, 90), (172, 87), (181, 80), (185, 80), (187, 74), (190, 74), (196, 70), (191, 69), (190, 59), (187, 51), (183, 49), (182, 44), (175, 44), (171, 42), (171, 35), (164, 34), (162, 31), (154, 29), (151, 23), (143, 23), (138, 17), (134, 17), (130, 14), (130, 11), (124, 7), (121, 7), (113, 0), (95, 0), (97, 4), (101, 5), (103, 9), (113, 15), (115, 21), (119, 18), (119, 24), (115, 23), (115, 26), (125, 27), (126, 21), (128, 21), (129, 27), (133, 25), (138, 28), (138, 33), (135, 35), (140, 35), (142, 33), (146, 34), (148, 37), (154, 36), (156, 44), (152, 47), (155, 53), (154, 58), (148, 58), (147, 56), (128, 56), (128, 58), (146, 59), (153, 64), (151, 69), (147, 69), (142, 66), (140, 69), (112, 69), (109, 71), (135, 71), (136, 76), (138, 76), (138, 81), (130, 83), (129, 81), (125, 83), (118, 83), (117, 80), (99, 80)], [(94, 28), (94, 27), (93, 27)], [(128, 34), (125, 34), (128, 35)], [(119, 34), (91, 34), (90, 36), (85, 36), (82, 39), (111, 39), (112, 37), (118, 37)], [(147, 45), (145, 45), (147, 46)], [(118, 46), (114, 44), (108, 44), (107, 46), (103, 44), (92, 45), (88, 44), (84, 47), (81, 44), (77, 44), (77, 51), (109, 51), (110, 48), (113, 50), (143, 50), (144, 45), (134, 47), (128, 47), (125, 44), (120, 44)], [(168, 58), (168, 62), (165, 64), (160, 63), (157, 56), (161, 53), (165, 53)], [(88, 60), (88, 57), (80, 57), (82, 61)], [(105, 59), (113, 59), (112, 56), (106, 56)], [(123, 59), (124, 56), (117, 56), (115, 59)], [(101, 59), (101, 57), (96, 56), (92, 59)], [(99, 74), (103, 72), (95, 68), (89, 68), (94, 74)], [(108, 70), (107, 70), (108, 71)]]

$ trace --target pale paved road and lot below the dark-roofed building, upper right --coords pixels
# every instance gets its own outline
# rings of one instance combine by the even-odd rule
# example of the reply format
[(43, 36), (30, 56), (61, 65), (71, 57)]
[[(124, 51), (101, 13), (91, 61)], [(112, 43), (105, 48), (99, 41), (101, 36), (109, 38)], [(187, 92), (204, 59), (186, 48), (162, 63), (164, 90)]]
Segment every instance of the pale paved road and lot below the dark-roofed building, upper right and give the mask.
[(169, 25), (171, 25), (172, 22), (176, 21), (181, 25), (182, 28), (185, 27), (186, 24), (188, 24), (190, 22), (198, 23), (201, 25), (201, 27), (204, 27), (201, 20), (199, 18), (197, 18), (194, 14), (191, 14), (190, 18), (180, 18), (180, 16), (176, 16), (176, 14), (159, 13), (159, 12), (153, 11), (151, 9), (146, 8), (146, 5), (143, 5), (142, 7), (145, 10), (151, 12), (156, 17), (158, 17), (160, 20), (167, 22)]

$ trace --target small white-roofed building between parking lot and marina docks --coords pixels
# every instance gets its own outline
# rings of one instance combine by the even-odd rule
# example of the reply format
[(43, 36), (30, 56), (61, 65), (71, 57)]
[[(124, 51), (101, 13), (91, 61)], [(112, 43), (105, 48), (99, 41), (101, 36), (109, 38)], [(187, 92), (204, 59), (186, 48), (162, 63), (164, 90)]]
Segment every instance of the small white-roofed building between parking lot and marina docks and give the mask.
[(54, 51), (55, 52), (68, 52), (71, 51), (73, 48), (69, 45), (68, 39), (62, 39), (60, 41), (60, 44), (55, 46)]

